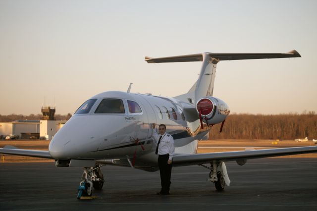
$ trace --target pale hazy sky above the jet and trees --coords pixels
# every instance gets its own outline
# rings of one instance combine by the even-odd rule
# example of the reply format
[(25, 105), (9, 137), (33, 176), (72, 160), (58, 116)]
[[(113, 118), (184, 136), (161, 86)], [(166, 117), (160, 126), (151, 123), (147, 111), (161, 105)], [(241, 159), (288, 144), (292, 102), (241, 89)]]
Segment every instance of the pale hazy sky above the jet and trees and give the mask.
[(0, 0), (0, 114), (73, 113), (105, 91), (186, 93), (201, 62), (144, 56), (286, 53), (220, 61), (214, 96), (234, 113), (317, 111), (316, 0)]

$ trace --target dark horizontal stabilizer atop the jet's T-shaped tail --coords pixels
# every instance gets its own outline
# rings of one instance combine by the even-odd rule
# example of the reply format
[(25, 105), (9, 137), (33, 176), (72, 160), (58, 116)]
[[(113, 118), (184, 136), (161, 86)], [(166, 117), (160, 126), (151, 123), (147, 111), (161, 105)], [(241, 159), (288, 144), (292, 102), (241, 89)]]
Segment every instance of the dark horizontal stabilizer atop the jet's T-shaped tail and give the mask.
[[(223, 60), (240, 60), (240, 59), (260, 59), (260, 58), (291, 58), (301, 57), (301, 55), (293, 50), (288, 53), (206, 53), (211, 58), (216, 59), (216, 62)], [(163, 63), (163, 62), (187, 62), (187, 61), (203, 61), (203, 53), (178, 55), (169, 57), (145, 57), (148, 63)]]

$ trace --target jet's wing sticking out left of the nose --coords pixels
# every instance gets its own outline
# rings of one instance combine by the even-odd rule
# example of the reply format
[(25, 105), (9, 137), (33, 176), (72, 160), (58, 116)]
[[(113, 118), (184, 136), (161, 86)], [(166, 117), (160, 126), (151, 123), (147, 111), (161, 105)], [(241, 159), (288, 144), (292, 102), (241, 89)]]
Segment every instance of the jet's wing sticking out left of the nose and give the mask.
[(12, 146), (5, 146), (4, 148), (0, 148), (0, 154), (8, 154), (8, 155), (16, 155), (16, 156), (29, 156), (36, 158), (51, 158), (49, 151), (45, 150), (21, 150)]

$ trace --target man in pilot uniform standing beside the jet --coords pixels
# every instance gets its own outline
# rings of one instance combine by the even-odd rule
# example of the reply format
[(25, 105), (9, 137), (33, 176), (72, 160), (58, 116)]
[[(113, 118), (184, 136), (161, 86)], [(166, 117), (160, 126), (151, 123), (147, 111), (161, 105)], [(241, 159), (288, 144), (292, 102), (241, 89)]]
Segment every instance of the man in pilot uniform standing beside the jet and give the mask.
[[(152, 124), (155, 129), (155, 123)], [(174, 139), (171, 135), (166, 133), (166, 126), (159, 125), (159, 133), (153, 130), (153, 136), (158, 141), (155, 154), (159, 156), (159, 174), (161, 190), (158, 195), (169, 195), (170, 175), (172, 172), (172, 159), (174, 157)]]

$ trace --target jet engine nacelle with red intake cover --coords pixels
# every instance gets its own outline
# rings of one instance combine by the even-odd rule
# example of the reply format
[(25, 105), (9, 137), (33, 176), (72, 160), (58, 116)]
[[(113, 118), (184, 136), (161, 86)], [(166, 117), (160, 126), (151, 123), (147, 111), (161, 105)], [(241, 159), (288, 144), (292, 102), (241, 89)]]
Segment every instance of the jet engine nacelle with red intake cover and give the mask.
[(207, 123), (207, 125), (223, 122), (230, 113), (229, 106), (215, 97), (200, 99), (196, 104), (196, 110), (201, 121)]

